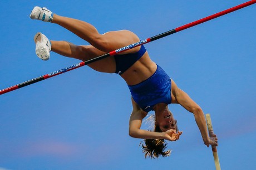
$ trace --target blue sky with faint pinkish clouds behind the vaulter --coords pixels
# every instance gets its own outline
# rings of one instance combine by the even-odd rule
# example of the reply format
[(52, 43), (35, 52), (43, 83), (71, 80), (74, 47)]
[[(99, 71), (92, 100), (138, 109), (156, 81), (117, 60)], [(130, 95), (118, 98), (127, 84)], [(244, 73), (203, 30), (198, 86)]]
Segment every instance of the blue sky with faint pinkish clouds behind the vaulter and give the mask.
[[(1, 9), (0, 89), (80, 63), (51, 53), (42, 61), (33, 37), (88, 44), (58, 25), (29, 19), (35, 6), (89, 22), (105, 33), (129, 29), (141, 39), (246, 1), (6, 1)], [(146, 44), (151, 59), (211, 114), (223, 169), (253, 169), (256, 140), (256, 5)], [(0, 169), (215, 169), (194, 117), (170, 105), (183, 135), (171, 156), (145, 159), (128, 135), (130, 92), (116, 74), (84, 66), (0, 97)], [(143, 125), (147, 129), (147, 125)]]

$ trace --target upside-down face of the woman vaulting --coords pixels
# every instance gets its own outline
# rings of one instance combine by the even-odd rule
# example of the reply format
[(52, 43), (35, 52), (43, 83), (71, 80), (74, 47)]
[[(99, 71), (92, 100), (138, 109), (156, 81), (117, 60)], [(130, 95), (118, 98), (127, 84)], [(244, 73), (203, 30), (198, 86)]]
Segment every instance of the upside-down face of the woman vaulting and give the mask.
[(173, 114), (171, 114), (169, 110), (156, 113), (156, 123), (159, 125), (162, 132), (170, 129), (177, 131), (177, 121), (174, 119)]

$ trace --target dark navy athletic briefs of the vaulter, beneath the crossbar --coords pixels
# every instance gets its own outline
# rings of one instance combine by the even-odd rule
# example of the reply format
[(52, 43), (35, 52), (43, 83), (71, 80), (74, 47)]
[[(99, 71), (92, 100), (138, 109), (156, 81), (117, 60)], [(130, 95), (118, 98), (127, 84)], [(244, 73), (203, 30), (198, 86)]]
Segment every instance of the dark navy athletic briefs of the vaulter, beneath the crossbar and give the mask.
[(142, 55), (146, 53), (144, 45), (141, 45), (141, 48), (136, 53), (128, 54), (116, 54), (114, 55), (116, 61), (116, 74), (121, 75), (127, 69), (129, 69), (137, 60), (141, 58)]

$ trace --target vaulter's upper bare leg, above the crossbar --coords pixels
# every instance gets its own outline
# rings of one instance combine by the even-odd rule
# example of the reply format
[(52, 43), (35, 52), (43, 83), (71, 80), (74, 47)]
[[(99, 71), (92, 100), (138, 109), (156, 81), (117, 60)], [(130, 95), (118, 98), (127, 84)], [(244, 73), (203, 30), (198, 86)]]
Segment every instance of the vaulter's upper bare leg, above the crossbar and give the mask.
[[(93, 47), (106, 53), (139, 41), (139, 38), (128, 30), (100, 34), (97, 29), (93, 27), (93, 25), (87, 22), (58, 16), (57, 14), (53, 14), (52, 23), (56, 23), (70, 30), (72, 33), (78, 35), (78, 37), (93, 45)], [(132, 49), (129, 51), (129, 53), (133, 53), (137, 50), (139, 50), (139, 48)]]

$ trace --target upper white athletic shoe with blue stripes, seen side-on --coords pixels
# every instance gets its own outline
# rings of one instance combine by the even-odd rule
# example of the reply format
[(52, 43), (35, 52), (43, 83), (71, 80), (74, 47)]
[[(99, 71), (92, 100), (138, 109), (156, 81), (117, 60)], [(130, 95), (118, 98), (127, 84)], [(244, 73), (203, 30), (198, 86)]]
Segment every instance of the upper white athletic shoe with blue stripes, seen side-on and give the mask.
[(48, 10), (46, 7), (35, 7), (31, 14), (29, 15), (31, 19), (38, 19), (44, 22), (52, 22), (53, 20), (53, 13)]

